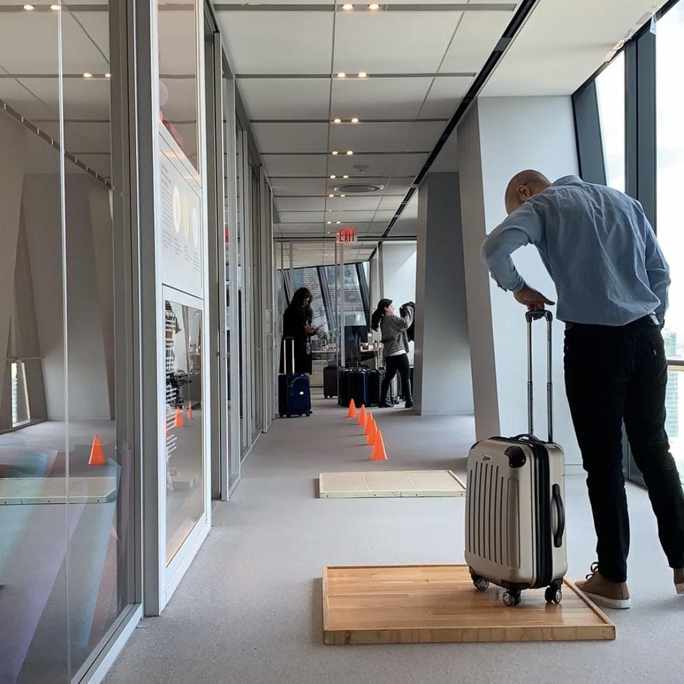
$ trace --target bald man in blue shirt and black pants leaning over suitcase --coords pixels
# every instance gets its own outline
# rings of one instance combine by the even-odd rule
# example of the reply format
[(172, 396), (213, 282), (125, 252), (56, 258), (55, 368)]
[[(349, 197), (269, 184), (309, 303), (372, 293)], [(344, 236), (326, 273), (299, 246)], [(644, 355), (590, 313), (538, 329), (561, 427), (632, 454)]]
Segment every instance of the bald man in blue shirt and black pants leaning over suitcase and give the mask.
[(608, 608), (629, 608), (630, 521), (623, 421), (644, 475), (660, 542), (684, 594), (684, 494), (665, 433), (667, 362), (660, 329), (669, 269), (639, 202), (566, 176), (522, 171), (508, 184), (508, 218), (482, 257), (528, 309), (553, 304), (517, 272), (511, 254), (533, 244), (556, 285), (565, 322), (565, 391), (587, 473), (598, 563), (581, 589)]

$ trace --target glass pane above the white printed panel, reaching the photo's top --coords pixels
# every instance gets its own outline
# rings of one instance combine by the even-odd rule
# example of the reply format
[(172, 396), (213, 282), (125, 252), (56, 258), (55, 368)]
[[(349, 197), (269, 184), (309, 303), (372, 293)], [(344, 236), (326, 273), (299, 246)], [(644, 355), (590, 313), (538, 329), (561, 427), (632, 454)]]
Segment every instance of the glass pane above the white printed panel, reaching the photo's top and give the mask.
[(198, 158), (197, 3), (158, 0), (159, 121), (188, 161)]

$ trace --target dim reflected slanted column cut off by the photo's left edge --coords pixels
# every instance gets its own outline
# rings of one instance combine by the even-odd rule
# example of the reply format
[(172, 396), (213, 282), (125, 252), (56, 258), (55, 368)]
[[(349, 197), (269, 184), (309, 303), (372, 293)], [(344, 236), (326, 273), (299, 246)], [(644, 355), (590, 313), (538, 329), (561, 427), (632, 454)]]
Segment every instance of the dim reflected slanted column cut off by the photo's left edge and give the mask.
[[(17, 262), (17, 238), (24, 182), (24, 146), (26, 129), (4, 114), (0, 114), (0, 398), (3, 396), (8, 364), (10, 318), (14, 306), (14, 272)], [(2, 402), (0, 402), (2, 403)], [(3, 406), (0, 410), (11, 410)], [(10, 417), (11, 420), (11, 417)]]

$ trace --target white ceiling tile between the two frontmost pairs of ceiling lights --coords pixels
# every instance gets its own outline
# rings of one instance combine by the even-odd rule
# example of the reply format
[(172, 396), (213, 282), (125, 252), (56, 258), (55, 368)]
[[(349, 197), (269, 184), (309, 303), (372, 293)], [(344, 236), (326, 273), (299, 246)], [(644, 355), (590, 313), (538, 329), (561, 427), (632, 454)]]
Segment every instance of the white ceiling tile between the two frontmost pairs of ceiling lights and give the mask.
[(460, 17), (457, 12), (340, 14), (335, 26), (335, 71), (433, 73)]

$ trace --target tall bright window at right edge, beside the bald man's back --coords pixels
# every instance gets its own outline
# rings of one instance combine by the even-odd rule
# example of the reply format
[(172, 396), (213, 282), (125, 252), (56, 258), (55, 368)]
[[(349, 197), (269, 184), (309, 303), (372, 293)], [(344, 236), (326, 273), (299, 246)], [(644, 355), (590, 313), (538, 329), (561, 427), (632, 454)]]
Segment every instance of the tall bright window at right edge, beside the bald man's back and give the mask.
[(667, 389), (667, 433), (684, 479), (684, 3), (657, 24), (657, 235), (670, 265), (669, 308), (663, 337), (671, 362)]

